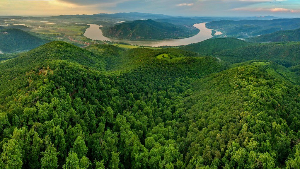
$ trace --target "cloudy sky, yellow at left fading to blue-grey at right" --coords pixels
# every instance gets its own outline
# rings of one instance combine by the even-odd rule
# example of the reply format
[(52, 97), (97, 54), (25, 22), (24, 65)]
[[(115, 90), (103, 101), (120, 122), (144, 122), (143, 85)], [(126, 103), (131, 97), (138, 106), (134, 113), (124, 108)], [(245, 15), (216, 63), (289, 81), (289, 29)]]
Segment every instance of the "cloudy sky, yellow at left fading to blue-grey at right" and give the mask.
[(300, 0), (0, 0), (0, 15), (145, 12), (174, 16), (300, 17)]

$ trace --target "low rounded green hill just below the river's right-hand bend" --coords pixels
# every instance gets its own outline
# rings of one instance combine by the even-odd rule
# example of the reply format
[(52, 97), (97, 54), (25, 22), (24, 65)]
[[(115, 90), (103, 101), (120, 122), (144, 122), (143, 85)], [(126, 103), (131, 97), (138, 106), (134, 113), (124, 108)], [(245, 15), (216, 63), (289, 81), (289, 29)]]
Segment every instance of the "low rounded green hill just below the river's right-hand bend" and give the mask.
[(221, 50), (234, 49), (237, 47), (244, 47), (249, 45), (253, 44), (247, 43), (236, 38), (216, 38), (207, 39), (205, 41), (198, 42), (195, 44), (189, 44), (184, 47), (181, 47), (181, 49), (197, 52), (203, 55), (211, 55)]

